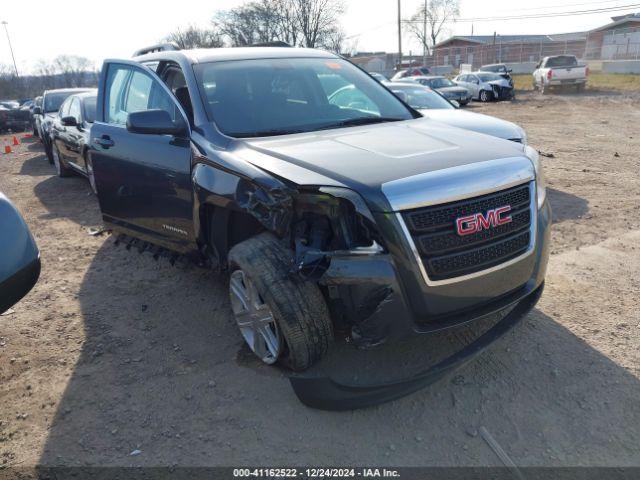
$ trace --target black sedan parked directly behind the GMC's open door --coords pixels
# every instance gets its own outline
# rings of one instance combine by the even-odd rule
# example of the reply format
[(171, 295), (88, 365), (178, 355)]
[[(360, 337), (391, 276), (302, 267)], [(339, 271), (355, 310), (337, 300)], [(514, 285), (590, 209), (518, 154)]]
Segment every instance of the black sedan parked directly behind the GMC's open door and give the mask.
[(79, 173), (96, 191), (91, 159), (87, 155), (91, 125), (96, 118), (97, 90), (67, 97), (51, 126), (53, 164), (59, 177)]

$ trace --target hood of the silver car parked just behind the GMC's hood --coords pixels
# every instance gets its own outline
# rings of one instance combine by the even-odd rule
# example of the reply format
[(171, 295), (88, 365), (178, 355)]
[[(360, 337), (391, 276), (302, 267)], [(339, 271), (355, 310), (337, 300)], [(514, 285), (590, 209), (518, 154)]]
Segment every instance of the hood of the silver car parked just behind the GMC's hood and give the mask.
[(484, 133), (492, 137), (511, 140), (522, 139), (522, 129), (515, 123), (500, 120), (499, 118), (483, 115), (482, 113), (467, 112), (464, 110), (420, 110), (425, 117), (446, 123), (453, 127), (464, 128), (473, 132)]

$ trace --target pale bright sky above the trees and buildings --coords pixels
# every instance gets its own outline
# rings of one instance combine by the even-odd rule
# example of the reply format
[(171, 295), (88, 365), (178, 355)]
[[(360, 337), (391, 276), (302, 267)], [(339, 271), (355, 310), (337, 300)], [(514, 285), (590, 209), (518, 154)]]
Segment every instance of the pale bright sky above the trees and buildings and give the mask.
[[(402, 0), (403, 18), (408, 18), (423, 0)], [(127, 58), (145, 45), (156, 43), (168, 32), (189, 24), (208, 25), (214, 12), (244, 3), (241, 0), (111, 0), (107, 3), (52, 3), (31, 0), (24, 9), (2, 8), (0, 20), (9, 22), (9, 34), (22, 72), (33, 70), (38, 59), (50, 60), (63, 53), (88, 57), (100, 64), (104, 58)], [(347, 35), (357, 39), (360, 51), (397, 50), (397, 0), (345, 0), (347, 11), (342, 26)], [(527, 20), (475, 20), (513, 14), (556, 13), (617, 7), (631, 0), (460, 0), (463, 21), (449, 25), (449, 32), (471, 34), (547, 34), (589, 30), (604, 25), (619, 10), (569, 17)], [(17, 3), (12, 3), (17, 5)], [(69, 5), (65, 8), (65, 5)], [(640, 10), (640, 9), (639, 9)], [(37, 13), (34, 13), (37, 12)], [(444, 38), (444, 37), (443, 37)], [(418, 53), (419, 45), (404, 35), (404, 51)], [(11, 63), (4, 31), (0, 31), (0, 63)]]

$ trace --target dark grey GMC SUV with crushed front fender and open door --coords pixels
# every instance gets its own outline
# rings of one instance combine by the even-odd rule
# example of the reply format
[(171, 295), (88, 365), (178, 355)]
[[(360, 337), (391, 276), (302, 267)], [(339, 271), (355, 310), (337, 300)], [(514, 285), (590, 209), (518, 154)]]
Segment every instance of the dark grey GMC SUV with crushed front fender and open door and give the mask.
[[(423, 118), (331, 53), (164, 45), (107, 60), (89, 154), (106, 225), (228, 272), (248, 347), (293, 372), (340, 338), (400, 351), (502, 315), (444, 371), (543, 288), (550, 208), (536, 151)], [(361, 404), (432, 374), (369, 385)], [(291, 375), (305, 397), (309, 379)], [(306, 403), (360, 405), (353, 390), (331, 405), (331, 388)]]

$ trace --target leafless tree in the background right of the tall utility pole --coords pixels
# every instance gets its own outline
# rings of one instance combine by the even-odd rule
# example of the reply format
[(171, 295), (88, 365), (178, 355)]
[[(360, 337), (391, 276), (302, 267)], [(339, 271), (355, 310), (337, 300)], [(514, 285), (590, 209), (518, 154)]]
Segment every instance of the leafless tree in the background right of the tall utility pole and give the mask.
[[(447, 22), (455, 21), (460, 16), (459, 0), (428, 0), (427, 8), (418, 7), (408, 22), (411, 34), (420, 42), (425, 52), (438, 42)], [(425, 27), (426, 19), (426, 29)]]

